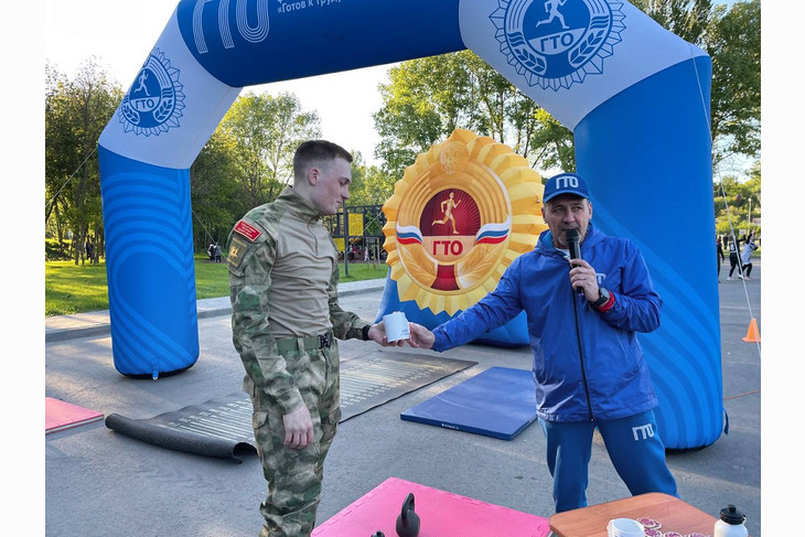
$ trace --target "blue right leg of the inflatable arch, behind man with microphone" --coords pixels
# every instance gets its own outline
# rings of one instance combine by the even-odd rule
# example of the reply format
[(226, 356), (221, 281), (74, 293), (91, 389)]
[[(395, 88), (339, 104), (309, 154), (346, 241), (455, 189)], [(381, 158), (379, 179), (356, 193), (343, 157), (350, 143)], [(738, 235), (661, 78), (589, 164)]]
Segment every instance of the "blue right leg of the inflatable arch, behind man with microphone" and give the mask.
[(666, 445), (708, 445), (721, 432), (718, 282), (707, 269), (716, 224), (709, 117), (710, 62), (689, 60), (616, 95), (576, 128), (577, 170), (593, 221), (641, 248), (663, 298), (661, 327), (641, 334)]

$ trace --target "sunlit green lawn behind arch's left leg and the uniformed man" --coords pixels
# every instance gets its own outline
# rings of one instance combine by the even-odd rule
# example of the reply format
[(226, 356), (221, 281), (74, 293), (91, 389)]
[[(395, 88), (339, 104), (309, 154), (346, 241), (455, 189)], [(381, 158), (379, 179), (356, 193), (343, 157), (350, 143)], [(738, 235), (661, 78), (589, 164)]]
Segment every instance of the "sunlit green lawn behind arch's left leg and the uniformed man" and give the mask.
[[(341, 281), (385, 278), (386, 264), (350, 264), (350, 277), (339, 265)], [(198, 299), (227, 297), (229, 280), (226, 262), (210, 262), (204, 255), (195, 257), (195, 296)], [(45, 261), (45, 316), (68, 315), (109, 309), (106, 288), (106, 264), (75, 265), (73, 261)]]

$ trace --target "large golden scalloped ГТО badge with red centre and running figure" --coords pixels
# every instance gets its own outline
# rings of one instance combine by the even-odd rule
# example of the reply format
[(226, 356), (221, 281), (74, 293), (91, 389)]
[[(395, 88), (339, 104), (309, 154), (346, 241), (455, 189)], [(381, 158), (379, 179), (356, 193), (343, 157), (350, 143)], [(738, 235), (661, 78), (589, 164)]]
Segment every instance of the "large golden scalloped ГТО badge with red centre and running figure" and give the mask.
[(457, 129), (420, 153), (383, 205), (400, 301), (452, 315), (481, 300), (547, 228), (541, 195), (539, 174), (492, 138)]

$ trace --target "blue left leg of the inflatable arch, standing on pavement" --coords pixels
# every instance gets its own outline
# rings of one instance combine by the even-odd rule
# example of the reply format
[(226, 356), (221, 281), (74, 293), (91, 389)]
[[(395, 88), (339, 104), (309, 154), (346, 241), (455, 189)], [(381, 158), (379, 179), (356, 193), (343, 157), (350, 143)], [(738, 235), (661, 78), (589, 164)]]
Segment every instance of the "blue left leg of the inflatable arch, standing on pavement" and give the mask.
[(99, 160), (115, 367), (153, 378), (185, 369), (198, 356), (189, 171), (103, 147)]

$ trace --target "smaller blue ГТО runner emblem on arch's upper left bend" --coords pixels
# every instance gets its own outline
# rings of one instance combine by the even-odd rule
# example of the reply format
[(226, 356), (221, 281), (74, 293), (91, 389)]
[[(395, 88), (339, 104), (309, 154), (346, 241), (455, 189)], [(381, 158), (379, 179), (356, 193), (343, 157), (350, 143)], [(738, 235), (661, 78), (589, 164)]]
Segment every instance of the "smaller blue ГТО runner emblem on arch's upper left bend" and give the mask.
[(179, 83), (179, 69), (159, 49), (142, 64), (135, 83), (120, 104), (119, 117), (126, 132), (157, 135), (179, 127), (184, 108), (184, 94)]

